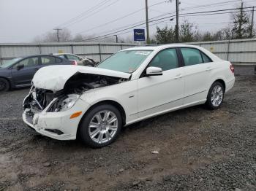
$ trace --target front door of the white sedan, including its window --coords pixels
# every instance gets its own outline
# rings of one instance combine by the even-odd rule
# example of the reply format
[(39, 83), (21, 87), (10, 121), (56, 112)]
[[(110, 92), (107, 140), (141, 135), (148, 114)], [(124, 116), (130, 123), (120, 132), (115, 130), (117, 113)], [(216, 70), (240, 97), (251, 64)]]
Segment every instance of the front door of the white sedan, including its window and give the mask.
[(162, 68), (162, 76), (138, 79), (138, 117), (150, 117), (182, 106), (184, 72), (175, 48), (160, 51), (148, 66)]

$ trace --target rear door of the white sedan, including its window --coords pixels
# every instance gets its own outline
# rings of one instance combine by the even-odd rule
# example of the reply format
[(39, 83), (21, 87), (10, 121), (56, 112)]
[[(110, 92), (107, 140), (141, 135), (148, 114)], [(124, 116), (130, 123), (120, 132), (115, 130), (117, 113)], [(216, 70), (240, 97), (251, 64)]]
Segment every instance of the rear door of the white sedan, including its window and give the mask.
[(212, 61), (200, 50), (192, 47), (180, 48), (184, 60), (184, 104), (193, 104), (206, 99), (211, 81)]

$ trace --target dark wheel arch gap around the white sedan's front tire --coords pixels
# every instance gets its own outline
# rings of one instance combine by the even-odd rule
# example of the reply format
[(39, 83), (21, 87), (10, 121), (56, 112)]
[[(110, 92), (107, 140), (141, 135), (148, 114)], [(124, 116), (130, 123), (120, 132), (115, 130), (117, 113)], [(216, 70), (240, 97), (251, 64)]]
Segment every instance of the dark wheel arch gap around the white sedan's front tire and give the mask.
[(80, 122), (78, 124), (78, 129), (77, 129), (77, 133), (76, 133), (76, 136), (78, 137), (78, 133), (80, 132), (80, 124), (81, 122), (83, 121), (83, 118), (86, 117), (86, 115), (88, 114), (88, 112), (91, 111), (91, 109), (94, 109), (96, 106), (99, 106), (99, 105), (102, 105), (102, 104), (110, 104), (112, 106), (115, 106), (116, 109), (118, 109), (118, 111), (120, 112), (121, 114), (121, 118), (122, 118), (122, 125), (125, 125), (126, 124), (126, 112), (124, 110), (124, 107), (121, 106), (121, 104), (119, 104), (117, 101), (113, 101), (113, 100), (104, 100), (104, 101), (99, 101), (93, 105), (91, 105), (89, 107), (89, 109), (87, 109), (87, 111), (83, 114), (83, 117), (80, 119)]

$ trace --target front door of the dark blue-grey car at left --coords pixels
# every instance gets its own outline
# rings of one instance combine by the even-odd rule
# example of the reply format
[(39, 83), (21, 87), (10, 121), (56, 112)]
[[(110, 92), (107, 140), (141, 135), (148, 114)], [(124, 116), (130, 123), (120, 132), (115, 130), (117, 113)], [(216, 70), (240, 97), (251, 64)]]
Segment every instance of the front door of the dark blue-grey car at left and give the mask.
[[(18, 69), (18, 66), (23, 66)], [(12, 67), (12, 79), (15, 86), (31, 85), (31, 80), (34, 74), (39, 69), (39, 57), (25, 58)]]

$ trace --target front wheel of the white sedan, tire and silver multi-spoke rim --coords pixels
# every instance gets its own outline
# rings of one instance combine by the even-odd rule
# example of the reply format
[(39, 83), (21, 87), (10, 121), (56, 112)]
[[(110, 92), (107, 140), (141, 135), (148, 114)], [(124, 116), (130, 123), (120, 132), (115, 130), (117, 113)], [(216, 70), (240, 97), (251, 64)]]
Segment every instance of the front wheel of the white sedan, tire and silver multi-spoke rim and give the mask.
[(122, 126), (116, 107), (102, 104), (91, 109), (80, 123), (80, 139), (90, 147), (105, 147), (116, 141)]

